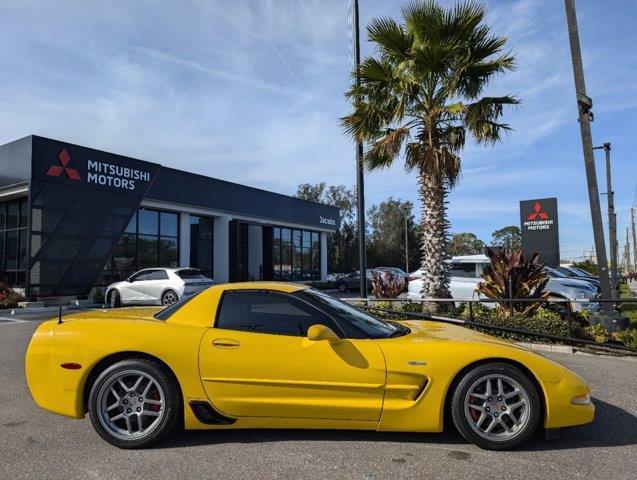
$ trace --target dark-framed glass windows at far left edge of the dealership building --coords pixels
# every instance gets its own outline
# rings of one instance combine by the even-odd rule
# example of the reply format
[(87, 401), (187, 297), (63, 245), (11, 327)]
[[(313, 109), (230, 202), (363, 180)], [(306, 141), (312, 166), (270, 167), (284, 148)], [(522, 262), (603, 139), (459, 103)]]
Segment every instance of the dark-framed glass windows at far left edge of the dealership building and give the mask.
[(24, 287), (27, 270), (28, 202), (0, 203), (0, 281)]

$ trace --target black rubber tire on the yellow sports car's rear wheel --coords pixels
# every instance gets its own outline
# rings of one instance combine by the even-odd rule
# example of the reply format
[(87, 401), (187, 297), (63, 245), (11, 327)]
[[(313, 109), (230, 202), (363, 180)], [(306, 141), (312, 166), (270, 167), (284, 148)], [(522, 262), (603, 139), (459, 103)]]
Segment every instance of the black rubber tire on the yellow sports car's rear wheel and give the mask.
[[(163, 401), (163, 405), (160, 407), (153, 407), (153, 405), (149, 406), (150, 409), (157, 408), (157, 410), (154, 410), (154, 413), (150, 412), (153, 413), (153, 415), (149, 416), (148, 418), (150, 418), (150, 420), (147, 419), (146, 421), (150, 421), (152, 423), (147, 425), (146, 431), (144, 431), (143, 429), (139, 430), (137, 428), (137, 435), (134, 435), (135, 432), (131, 433), (131, 430), (129, 428), (128, 436), (130, 438), (122, 438), (122, 436), (126, 437), (127, 433), (116, 432), (117, 428), (112, 427), (115, 422), (111, 422), (111, 426), (109, 427), (109, 420), (106, 420), (104, 416), (113, 415), (114, 418), (118, 414), (124, 415), (126, 407), (124, 405), (117, 406), (115, 408), (118, 410), (113, 412), (114, 409), (112, 409), (112, 407), (110, 411), (104, 410), (102, 404), (109, 402), (108, 395), (113, 395), (108, 393), (108, 391), (110, 390), (109, 385), (111, 385), (112, 382), (116, 381), (115, 379), (118, 379), (122, 376), (124, 378), (124, 382), (126, 383), (126, 378), (128, 378), (126, 377), (126, 375), (128, 374), (130, 374), (130, 378), (133, 380), (129, 381), (129, 383), (126, 384), (130, 388), (134, 387), (133, 383), (136, 375), (141, 374), (142, 376), (145, 375), (148, 376), (148, 378), (152, 378), (156, 382), (157, 387), (154, 384), (152, 385), (150, 392), (147, 391), (145, 393), (146, 395), (149, 395), (146, 400), (150, 401), (151, 398), (159, 399)], [(140, 390), (143, 388), (144, 382), (142, 381), (140, 386), (137, 387), (137, 390), (135, 392), (131, 392), (130, 397), (128, 396), (128, 394), (123, 393), (125, 391), (122, 389), (119, 392), (121, 394), (121, 397), (117, 398), (121, 398), (121, 401), (124, 403), (128, 401), (131, 402), (128, 404), (133, 407), (133, 409), (128, 408), (128, 411), (130, 412), (131, 410), (135, 409), (133, 402), (136, 402), (137, 399), (143, 398), (141, 397), (141, 395), (144, 395), (144, 393), (140, 393)], [(152, 397), (151, 395), (153, 391), (161, 393), (157, 393), (155, 397)], [(106, 397), (104, 397), (104, 395), (106, 395)], [(114, 397), (113, 395), (111, 398), (116, 397)], [(145, 410), (145, 404), (140, 405), (141, 410)], [(133, 449), (148, 447), (168, 435), (175, 428), (177, 420), (180, 417), (181, 403), (178, 387), (175, 380), (173, 379), (173, 376), (169, 372), (167, 372), (161, 365), (150, 360), (137, 358), (117, 362), (114, 365), (108, 367), (97, 377), (97, 379), (91, 386), (91, 392), (89, 394), (88, 400), (88, 411), (91, 418), (91, 423), (93, 424), (93, 428), (100, 437), (102, 437), (108, 443), (115, 445), (116, 447)], [(102, 414), (100, 414), (100, 412), (102, 412)], [(104, 412), (108, 413), (104, 414)], [(128, 416), (128, 418), (117, 420), (117, 422), (120, 422), (120, 425), (124, 423), (124, 426), (120, 427), (122, 429), (126, 428), (126, 425), (128, 425), (129, 421), (131, 422), (131, 425), (134, 425), (133, 422), (138, 421), (137, 414), (134, 411)], [(142, 422), (144, 422), (144, 420), (142, 420)], [(136, 427), (133, 426), (133, 430), (135, 430), (135, 428)]]

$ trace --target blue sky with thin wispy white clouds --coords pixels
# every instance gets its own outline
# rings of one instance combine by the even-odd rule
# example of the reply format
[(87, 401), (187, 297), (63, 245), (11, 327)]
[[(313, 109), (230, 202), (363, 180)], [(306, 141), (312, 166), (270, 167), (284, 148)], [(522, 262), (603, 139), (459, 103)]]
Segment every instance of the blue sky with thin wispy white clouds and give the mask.
[[(0, 143), (37, 134), (284, 194), (351, 186), (355, 150), (339, 124), (350, 110), (349, 3), (0, 0)], [(360, 0), (363, 28), (405, 3)], [(637, 179), (637, 2), (576, 3), (593, 142), (612, 144), (621, 252)], [(522, 103), (503, 143), (462, 153), (451, 230), (488, 243), (519, 225), (520, 200), (557, 197), (562, 257), (581, 257), (593, 238), (563, 2), (485, 5), (518, 62), (486, 93)], [(367, 173), (365, 189), (368, 207), (389, 196), (418, 206), (400, 162)]]

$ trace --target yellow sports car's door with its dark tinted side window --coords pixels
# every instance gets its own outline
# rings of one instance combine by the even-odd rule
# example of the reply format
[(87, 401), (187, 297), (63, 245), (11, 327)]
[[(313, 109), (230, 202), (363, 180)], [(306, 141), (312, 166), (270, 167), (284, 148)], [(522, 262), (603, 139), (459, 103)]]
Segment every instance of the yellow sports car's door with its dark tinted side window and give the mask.
[(314, 324), (339, 326), (292, 295), (224, 293), (199, 351), (210, 402), (230, 416), (378, 420), (385, 361), (370, 339), (310, 341)]

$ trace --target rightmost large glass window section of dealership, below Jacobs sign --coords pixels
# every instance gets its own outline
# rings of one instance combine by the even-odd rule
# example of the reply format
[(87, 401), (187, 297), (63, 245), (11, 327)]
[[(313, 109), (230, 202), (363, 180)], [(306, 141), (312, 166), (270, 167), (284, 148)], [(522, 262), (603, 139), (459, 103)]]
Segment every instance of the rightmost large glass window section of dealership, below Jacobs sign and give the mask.
[(274, 227), (272, 249), (272, 268), (275, 280), (311, 281), (321, 279), (319, 232)]

